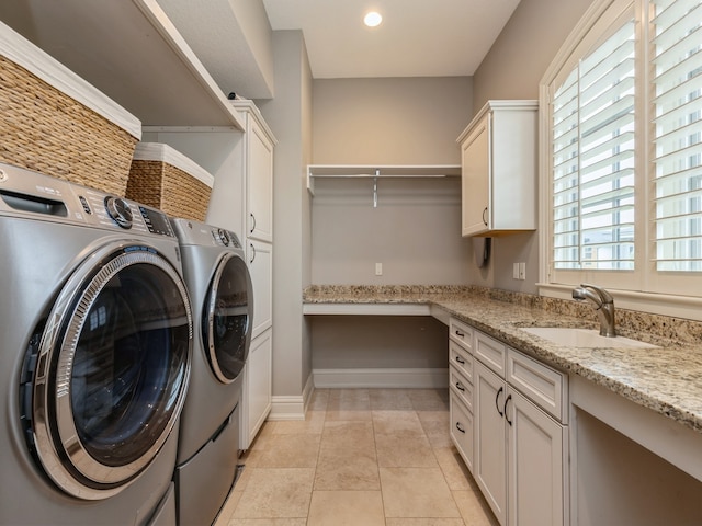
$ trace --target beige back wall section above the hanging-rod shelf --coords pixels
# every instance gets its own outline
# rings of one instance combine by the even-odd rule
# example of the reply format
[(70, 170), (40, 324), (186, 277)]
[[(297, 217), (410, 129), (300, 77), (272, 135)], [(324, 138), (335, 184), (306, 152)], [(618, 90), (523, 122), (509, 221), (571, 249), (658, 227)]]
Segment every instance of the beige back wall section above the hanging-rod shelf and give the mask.
[(468, 77), (314, 81), (315, 164), (457, 164)]

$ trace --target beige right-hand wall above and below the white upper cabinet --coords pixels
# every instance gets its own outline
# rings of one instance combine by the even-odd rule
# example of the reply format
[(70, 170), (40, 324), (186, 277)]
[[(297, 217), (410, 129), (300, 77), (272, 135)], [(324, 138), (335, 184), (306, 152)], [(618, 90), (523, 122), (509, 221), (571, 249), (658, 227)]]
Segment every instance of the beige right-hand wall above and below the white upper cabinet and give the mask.
[[(541, 78), (591, 3), (522, 0), (473, 77), (474, 110), (490, 99), (539, 99)], [(514, 262), (526, 263), (525, 281), (512, 278)], [(533, 294), (542, 264), (537, 232), (497, 238), (489, 268), (472, 272), (471, 283)]]

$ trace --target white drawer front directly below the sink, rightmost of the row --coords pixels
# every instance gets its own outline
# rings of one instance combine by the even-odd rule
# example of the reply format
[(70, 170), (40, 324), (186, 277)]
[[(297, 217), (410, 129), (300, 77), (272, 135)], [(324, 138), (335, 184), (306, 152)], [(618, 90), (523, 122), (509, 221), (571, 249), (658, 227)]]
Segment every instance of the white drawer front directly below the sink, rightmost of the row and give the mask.
[(507, 357), (507, 381), (557, 421), (566, 423), (568, 377), (516, 351)]

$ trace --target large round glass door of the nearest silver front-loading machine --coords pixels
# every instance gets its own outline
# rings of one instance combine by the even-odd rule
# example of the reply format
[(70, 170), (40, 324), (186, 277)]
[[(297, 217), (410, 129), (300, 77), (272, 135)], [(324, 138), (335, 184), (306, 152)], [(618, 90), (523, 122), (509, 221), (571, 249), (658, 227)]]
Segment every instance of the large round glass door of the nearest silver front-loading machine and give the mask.
[(115, 243), (80, 265), (30, 344), (21, 391), (59, 488), (105, 499), (148, 467), (180, 415), (191, 352), (185, 286), (156, 249)]

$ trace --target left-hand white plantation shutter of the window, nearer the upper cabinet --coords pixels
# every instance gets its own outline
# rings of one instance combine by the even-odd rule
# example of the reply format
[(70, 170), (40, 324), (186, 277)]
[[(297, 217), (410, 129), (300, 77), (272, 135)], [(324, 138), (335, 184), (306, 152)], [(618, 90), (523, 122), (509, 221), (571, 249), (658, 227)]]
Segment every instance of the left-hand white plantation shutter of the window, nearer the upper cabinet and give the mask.
[(632, 19), (554, 92), (554, 268), (634, 268), (634, 60)]

